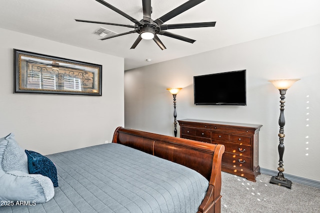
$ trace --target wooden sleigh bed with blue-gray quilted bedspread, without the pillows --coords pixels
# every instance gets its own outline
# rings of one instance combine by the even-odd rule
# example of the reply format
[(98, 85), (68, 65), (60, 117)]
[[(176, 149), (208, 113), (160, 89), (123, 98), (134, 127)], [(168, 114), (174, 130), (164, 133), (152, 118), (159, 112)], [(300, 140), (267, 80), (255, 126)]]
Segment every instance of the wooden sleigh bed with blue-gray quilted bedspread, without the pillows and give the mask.
[(58, 187), (2, 213), (220, 213), (223, 145), (116, 128), (112, 143), (46, 156)]

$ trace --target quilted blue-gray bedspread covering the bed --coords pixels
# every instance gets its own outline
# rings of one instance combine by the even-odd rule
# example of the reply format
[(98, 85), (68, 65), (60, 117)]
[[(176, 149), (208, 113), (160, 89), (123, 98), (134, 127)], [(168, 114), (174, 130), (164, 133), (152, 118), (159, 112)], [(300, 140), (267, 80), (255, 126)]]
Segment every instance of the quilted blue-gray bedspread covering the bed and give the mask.
[(208, 188), (189, 168), (114, 143), (47, 157), (58, 173), (53, 199), (1, 213), (195, 213)]

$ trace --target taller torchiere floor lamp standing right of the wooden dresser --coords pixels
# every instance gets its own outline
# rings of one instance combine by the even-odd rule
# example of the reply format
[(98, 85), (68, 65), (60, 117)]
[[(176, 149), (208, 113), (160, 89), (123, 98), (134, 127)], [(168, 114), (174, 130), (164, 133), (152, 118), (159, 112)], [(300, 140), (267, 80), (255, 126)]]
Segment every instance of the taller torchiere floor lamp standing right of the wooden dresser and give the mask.
[(283, 131), (283, 127), (285, 124), (284, 121), (284, 98), (285, 98), (285, 93), (286, 90), (295, 82), (298, 81), (300, 79), (277, 79), (277, 80), (269, 80), (269, 82), (271, 82), (273, 84), (273, 86), (275, 86), (279, 92), (280, 92), (280, 117), (279, 117), (279, 126), (280, 126), (280, 130), (279, 130), (279, 145), (278, 145), (278, 152), (279, 152), (279, 167), (278, 167), (278, 175), (277, 176), (273, 176), (271, 177), (270, 180), (270, 184), (276, 184), (278, 186), (282, 186), (282, 187), (286, 187), (288, 189), (291, 189), (291, 185), (292, 182), (287, 180), (286, 178), (284, 178), (283, 172), (284, 169), (283, 167), (283, 153), (284, 153), (284, 145), (283, 145), (283, 139), (284, 139), (284, 131)]

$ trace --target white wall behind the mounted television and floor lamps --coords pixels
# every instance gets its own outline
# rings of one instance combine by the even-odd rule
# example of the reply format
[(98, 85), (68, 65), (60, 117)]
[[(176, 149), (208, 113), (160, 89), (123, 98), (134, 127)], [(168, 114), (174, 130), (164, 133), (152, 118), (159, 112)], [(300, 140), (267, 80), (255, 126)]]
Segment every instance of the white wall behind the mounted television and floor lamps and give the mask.
[[(268, 80), (301, 78), (285, 95), (284, 173), (320, 181), (319, 38), (315, 25), (125, 71), (125, 127), (173, 136), (173, 98), (166, 88), (183, 87), (176, 98), (177, 119), (263, 125), (259, 165), (276, 171), (280, 95)], [(247, 71), (247, 106), (193, 104), (194, 75), (240, 69)]]

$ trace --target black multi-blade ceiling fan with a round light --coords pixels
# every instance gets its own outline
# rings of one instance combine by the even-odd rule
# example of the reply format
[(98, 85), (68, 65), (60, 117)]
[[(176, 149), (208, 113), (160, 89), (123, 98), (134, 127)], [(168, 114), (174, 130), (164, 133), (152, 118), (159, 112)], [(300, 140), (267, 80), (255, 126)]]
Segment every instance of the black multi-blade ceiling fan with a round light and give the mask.
[(116, 25), (116, 26), (124, 26), (129, 28), (134, 28), (134, 30), (119, 33), (116, 35), (112, 35), (109, 37), (101, 38), (100, 40), (105, 40), (109, 38), (113, 38), (120, 35), (126, 35), (130, 33), (138, 33), (138, 38), (134, 41), (133, 45), (130, 49), (134, 49), (137, 44), (141, 41), (141, 39), (153, 39), (155, 43), (163, 50), (166, 49), (166, 47), (163, 45), (163, 43), (158, 38), (157, 34), (168, 36), (171, 38), (179, 39), (182, 41), (186, 41), (189, 43), (193, 43), (195, 40), (191, 38), (187, 38), (181, 35), (177, 35), (168, 31), (164, 31), (167, 29), (178, 29), (178, 28), (194, 28), (194, 27), (209, 27), (209, 26), (215, 26), (215, 21), (211, 22), (198, 22), (198, 23), (178, 23), (178, 24), (163, 24), (165, 21), (175, 17), (176, 15), (190, 9), (191, 7), (201, 3), (204, 0), (188, 0), (185, 3), (181, 4), (180, 6), (176, 7), (175, 9), (169, 11), (165, 15), (157, 18), (156, 20), (151, 19), (151, 0), (142, 0), (142, 10), (143, 10), (143, 18), (138, 21), (135, 18), (131, 17), (130, 15), (122, 12), (118, 8), (112, 6), (111, 4), (103, 1), (103, 0), (96, 0), (97, 2), (103, 4), (104, 6), (112, 9), (113, 11), (119, 13), (120, 15), (126, 17), (130, 21), (134, 23), (134, 25), (126, 25), (126, 24), (118, 24), (118, 23), (108, 23), (108, 22), (101, 22), (101, 21), (90, 21), (90, 20), (80, 20), (80, 19), (74, 19), (75, 21), (81, 21), (81, 22), (89, 22), (89, 23), (100, 23), (100, 24), (108, 24), (108, 25)]

